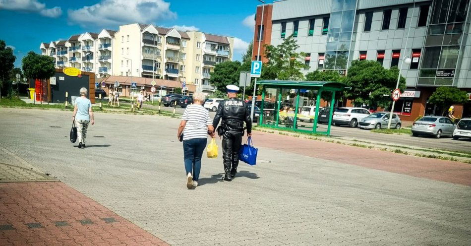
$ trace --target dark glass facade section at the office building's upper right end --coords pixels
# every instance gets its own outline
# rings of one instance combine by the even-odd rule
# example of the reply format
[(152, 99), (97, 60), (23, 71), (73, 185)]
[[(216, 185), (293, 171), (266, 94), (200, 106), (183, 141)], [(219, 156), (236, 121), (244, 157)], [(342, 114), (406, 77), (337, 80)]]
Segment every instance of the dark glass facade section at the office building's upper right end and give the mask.
[(418, 85), (454, 85), (467, 37), (469, 0), (433, 1)]

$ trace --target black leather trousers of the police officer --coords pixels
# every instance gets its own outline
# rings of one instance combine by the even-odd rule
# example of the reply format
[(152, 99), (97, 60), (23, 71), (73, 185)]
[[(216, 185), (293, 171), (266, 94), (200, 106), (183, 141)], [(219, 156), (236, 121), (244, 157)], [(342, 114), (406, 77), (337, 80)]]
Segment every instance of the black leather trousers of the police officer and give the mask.
[(224, 171), (230, 172), (231, 169), (237, 170), (239, 165), (239, 151), (240, 144), (242, 143), (243, 132), (227, 131), (223, 135), (223, 160)]

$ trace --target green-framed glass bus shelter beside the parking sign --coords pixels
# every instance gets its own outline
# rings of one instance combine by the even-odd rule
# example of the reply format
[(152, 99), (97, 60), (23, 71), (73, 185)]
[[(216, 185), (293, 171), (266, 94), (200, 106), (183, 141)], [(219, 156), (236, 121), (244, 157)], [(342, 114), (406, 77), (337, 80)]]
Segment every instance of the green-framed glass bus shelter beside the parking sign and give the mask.
[[(259, 125), (330, 135), (335, 94), (346, 89), (340, 82), (262, 80)], [(330, 107), (320, 107), (321, 99)]]

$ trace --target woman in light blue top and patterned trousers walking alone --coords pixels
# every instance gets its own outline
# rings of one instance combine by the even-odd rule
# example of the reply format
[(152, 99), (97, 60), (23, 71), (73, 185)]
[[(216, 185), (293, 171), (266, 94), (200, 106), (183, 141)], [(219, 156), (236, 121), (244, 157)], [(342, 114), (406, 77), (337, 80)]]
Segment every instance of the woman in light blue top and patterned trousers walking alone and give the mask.
[(87, 138), (88, 124), (95, 123), (92, 112), (92, 102), (87, 98), (87, 89), (80, 89), (80, 97), (75, 99), (72, 120), (77, 127), (78, 148), (85, 148), (85, 139)]

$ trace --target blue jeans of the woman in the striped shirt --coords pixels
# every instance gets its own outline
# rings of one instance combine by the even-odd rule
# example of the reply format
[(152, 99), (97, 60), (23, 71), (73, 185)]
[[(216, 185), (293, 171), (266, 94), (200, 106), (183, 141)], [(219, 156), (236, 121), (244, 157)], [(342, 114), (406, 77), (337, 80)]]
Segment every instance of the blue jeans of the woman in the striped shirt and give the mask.
[(183, 159), (186, 173), (193, 174), (193, 180), (198, 181), (201, 171), (201, 156), (206, 148), (207, 138), (193, 138), (183, 141)]

